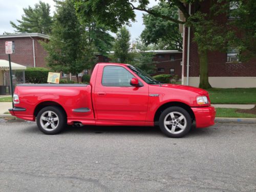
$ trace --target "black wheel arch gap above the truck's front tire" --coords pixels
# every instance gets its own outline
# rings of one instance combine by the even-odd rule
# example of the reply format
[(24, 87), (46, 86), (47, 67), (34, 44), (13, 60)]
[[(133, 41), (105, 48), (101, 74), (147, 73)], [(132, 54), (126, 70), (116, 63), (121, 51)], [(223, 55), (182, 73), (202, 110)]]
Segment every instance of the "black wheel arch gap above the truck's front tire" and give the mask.
[(167, 103), (164, 103), (161, 106), (159, 106), (159, 108), (157, 109), (157, 111), (155, 113), (155, 116), (154, 116), (154, 122), (155, 123), (159, 121), (159, 117), (160, 117), (161, 113), (165, 109), (169, 108), (170, 106), (179, 106), (179, 107), (183, 108), (184, 110), (186, 110), (188, 112), (188, 114), (190, 115), (191, 119), (193, 119), (193, 120), (196, 119), (195, 114), (191, 110), (189, 105), (187, 105), (187, 104), (185, 104), (183, 102), (171, 101), (171, 102), (167, 102)]

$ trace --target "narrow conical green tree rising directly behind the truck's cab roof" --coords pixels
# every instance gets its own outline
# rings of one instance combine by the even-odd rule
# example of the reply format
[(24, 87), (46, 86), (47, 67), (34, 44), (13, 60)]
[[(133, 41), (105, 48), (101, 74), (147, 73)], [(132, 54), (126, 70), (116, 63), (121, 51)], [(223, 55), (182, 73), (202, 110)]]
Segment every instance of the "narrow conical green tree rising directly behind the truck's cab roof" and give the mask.
[(114, 57), (118, 59), (119, 62), (125, 63), (131, 60), (129, 56), (131, 35), (126, 27), (121, 27), (116, 35), (113, 46), (115, 52)]

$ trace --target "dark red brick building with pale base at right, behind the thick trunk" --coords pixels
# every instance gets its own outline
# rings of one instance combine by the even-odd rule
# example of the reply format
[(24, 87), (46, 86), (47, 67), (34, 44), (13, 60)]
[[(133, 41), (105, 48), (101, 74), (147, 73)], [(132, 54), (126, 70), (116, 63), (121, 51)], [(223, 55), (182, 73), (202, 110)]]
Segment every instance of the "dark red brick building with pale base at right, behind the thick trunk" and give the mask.
[[(203, 1), (201, 7), (205, 13), (209, 12), (209, 1)], [(189, 5), (186, 5), (188, 8)], [(191, 5), (191, 13), (194, 7)], [(183, 19), (180, 12), (180, 19)], [(216, 17), (218, 22), (226, 24), (232, 17), (219, 15)], [(183, 32), (183, 82), (189, 86), (199, 86), (199, 57), (197, 45), (193, 41), (193, 30), (180, 26)], [(189, 42), (188, 42), (188, 39)], [(256, 57), (247, 62), (240, 62), (238, 53), (231, 50), (227, 53), (214, 51), (208, 53), (208, 75), (209, 82), (215, 88), (252, 88), (256, 87)], [(187, 68), (187, 66), (189, 66)], [(187, 78), (188, 74), (188, 78)]]

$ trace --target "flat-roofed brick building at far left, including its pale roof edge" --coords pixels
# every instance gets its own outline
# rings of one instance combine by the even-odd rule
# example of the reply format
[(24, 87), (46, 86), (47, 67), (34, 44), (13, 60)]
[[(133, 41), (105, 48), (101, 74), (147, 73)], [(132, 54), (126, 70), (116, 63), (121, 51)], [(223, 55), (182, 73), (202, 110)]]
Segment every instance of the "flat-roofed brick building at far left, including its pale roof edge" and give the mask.
[(19, 33), (0, 35), (0, 59), (8, 60), (5, 54), (5, 41), (14, 41), (15, 52), (11, 61), (26, 67), (46, 67), (47, 52), (39, 41), (48, 40), (49, 36), (40, 33)]

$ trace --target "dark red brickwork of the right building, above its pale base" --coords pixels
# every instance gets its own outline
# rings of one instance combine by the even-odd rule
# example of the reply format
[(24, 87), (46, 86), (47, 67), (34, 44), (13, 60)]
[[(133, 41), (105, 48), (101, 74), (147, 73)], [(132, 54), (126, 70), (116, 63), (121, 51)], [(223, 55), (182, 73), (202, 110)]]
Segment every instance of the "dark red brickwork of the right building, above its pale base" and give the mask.
[[(204, 1), (202, 3), (202, 8), (204, 12), (208, 12), (209, 1)], [(193, 8), (192, 8), (193, 10)], [(226, 24), (228, 18), (225, 15), (219, 15), (216, 20), (220, 25)], [(193, 41), (193, 31), (190, 33), (190, 54), (189, 54), (189, 76), (198, 77), (199, 76), (199, 57), (197, 53), (197, 44)], [(238, 34), (239, 35), (239, 34)], [(186, 66), (187, 66), (187, 28), (185, 31), (185, 47), (184, 54), (184, 76), (186, 76)], [(226, 62), (226, 53), (214, 51), (208, 53), (208, 75), (210, 77), (255, 77), (256, 76), (256, 57), (251, 58), (247, 62)]]

